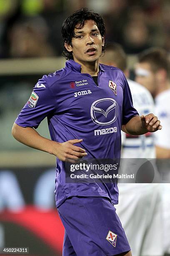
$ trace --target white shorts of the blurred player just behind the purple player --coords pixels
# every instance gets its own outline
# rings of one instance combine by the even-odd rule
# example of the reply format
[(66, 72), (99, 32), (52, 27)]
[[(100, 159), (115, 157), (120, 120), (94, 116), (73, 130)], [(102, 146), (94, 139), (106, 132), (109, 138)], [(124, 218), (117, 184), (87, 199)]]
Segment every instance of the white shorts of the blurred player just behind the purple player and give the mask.
[(133, 256), (162, 256), (161, 184), (118, 184), (118, 188), (115, 208)]

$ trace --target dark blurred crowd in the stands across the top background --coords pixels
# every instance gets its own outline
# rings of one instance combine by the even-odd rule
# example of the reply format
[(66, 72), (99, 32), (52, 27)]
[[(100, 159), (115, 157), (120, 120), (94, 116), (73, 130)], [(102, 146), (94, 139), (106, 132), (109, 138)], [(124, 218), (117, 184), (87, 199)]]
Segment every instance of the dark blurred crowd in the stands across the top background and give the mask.
[(107, 45), (170, 51), (169, 0), (0, 0), (0, 58), (61, 56), (62, 23), (82, 7), (104, 18)]

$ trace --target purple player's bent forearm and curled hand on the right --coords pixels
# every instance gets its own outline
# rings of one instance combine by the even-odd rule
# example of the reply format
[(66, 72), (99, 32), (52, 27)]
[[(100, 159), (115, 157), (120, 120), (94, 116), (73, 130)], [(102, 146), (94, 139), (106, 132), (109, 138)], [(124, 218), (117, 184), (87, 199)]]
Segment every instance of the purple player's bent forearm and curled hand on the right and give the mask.
[(131, 135), (141, 135), (148, 132), (155, 132), (162, 129), (160, 120), (154, 114), (136, 115), (125, 125), (122, 125), (122, 131)]

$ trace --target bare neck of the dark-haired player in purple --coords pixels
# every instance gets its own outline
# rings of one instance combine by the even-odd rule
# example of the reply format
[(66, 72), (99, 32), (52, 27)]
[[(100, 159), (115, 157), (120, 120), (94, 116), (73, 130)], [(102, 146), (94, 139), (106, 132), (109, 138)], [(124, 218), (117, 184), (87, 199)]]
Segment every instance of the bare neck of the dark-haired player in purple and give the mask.
[(77, 60), (74, 60), (78, 64), (81, 65), (81, 73), (90, 74), (90, 76), (97, 76), (99, 72), (99, 60), (94, 62), (80, 62)]

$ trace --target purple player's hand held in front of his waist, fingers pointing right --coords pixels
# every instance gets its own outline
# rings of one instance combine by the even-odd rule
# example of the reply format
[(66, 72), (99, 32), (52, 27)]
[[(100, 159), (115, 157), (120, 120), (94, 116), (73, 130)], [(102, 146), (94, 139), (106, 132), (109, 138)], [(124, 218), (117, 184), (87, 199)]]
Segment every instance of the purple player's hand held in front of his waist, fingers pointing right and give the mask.
[(85, 149), (73, 145), (80, 142), (82, 142), (82, 139), (74, 139), (63, 143), (57, 143), (57, 147), (52, 154), (57, 156), (57, 158), (61, 161), (75, 163), (83, 156), (87, 156), (87, 153), (85, 153)]

